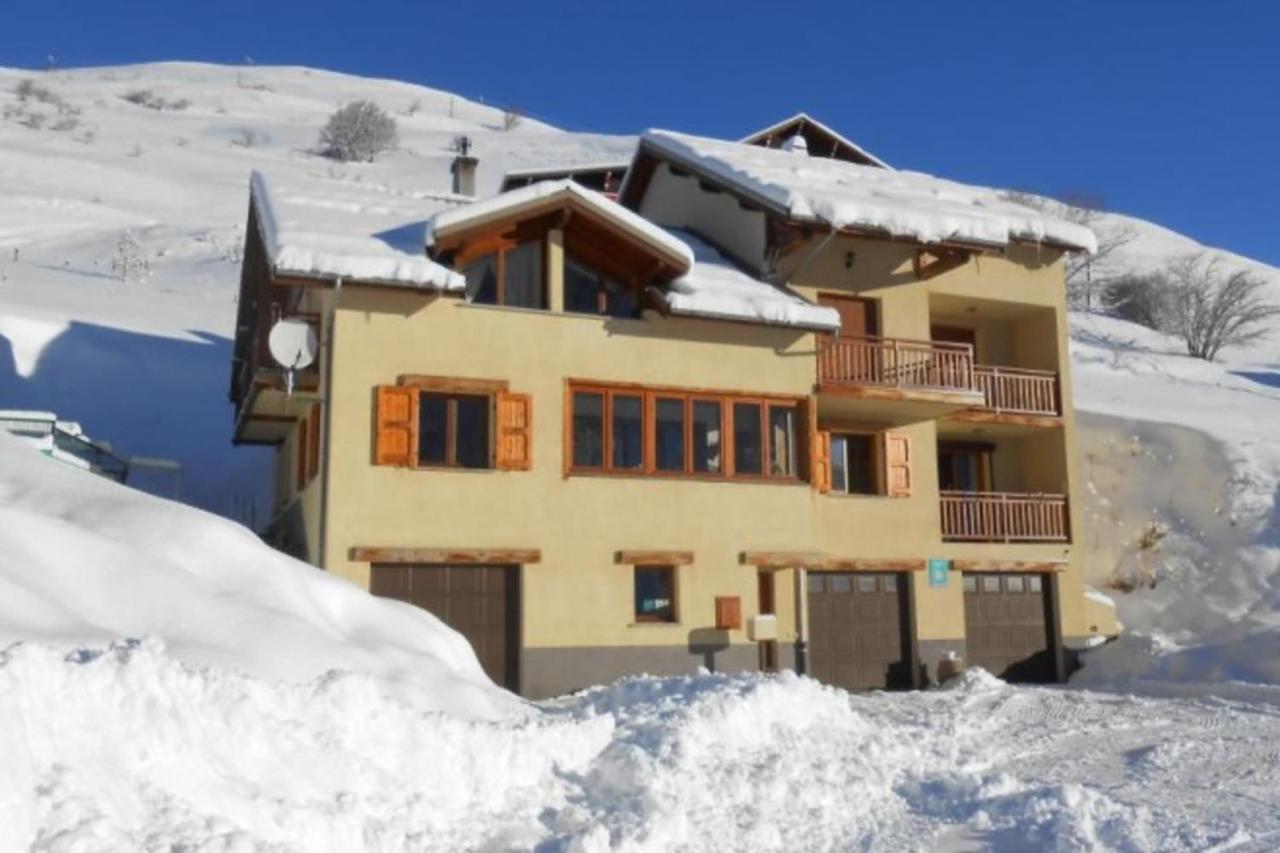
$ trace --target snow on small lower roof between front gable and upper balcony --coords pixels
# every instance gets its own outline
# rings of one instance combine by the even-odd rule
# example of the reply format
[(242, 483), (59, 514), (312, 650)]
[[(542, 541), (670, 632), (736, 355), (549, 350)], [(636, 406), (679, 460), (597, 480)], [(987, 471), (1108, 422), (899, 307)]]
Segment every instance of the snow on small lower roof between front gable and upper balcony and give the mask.
[(795, 293), (753, 278), (724, 259), (713, 246), (685, 231), (671, 232), (694, 254), (691, 270), (657, 296), (676, 315), (717, 320), (742, 320), (833, 332), (840, 315)]

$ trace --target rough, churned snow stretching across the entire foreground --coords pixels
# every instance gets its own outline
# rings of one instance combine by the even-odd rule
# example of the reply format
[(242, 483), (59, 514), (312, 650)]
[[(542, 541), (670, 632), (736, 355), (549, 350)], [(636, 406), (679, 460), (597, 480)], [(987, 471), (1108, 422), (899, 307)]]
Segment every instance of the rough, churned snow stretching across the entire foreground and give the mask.
[(20, 644), (0, 721), (5, 850), (1280, 847), (1280, 707), (982, 672), (631, 679), (480, 722), (366, 676)]

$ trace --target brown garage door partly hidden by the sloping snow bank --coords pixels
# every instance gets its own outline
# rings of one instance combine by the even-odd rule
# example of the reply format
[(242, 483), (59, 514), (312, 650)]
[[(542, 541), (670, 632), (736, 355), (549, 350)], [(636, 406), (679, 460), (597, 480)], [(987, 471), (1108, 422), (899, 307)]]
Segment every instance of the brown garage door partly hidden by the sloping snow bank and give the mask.
[(375, 565), (370, 592), (431, 611), (467, 638), (495, 684), (518, 690), (518, 566)]

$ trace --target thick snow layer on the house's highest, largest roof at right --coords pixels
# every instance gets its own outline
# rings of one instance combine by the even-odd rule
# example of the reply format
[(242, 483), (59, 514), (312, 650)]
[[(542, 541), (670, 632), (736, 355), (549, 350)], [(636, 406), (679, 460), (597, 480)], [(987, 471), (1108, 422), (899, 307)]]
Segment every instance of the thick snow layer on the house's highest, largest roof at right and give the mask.
[(923, 243), (1002, 247), (1028, 241), (1097, 251), (1097, 238), (1088, 228), (1007, 201), (996, 190), (919, 172), (879, 169), (671, 131), (646, 132), (641, 147), (718, 179), (731, 191), (796, 222)]

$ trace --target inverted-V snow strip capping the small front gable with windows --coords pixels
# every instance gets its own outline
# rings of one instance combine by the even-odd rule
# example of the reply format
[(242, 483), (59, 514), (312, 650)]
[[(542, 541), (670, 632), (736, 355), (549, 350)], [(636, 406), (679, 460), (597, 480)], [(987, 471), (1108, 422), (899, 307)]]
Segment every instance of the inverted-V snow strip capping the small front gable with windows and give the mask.
[(677, 266), (689, 269), (694, 265), (694, 254), (684, 242), (672, 237), (644, 216), (567, 178), (563, 181), (532, 183), (527, 187), (485, 199), (484, 201), (476, 201), (465, 207), (438, 213), (426, 225), (426, 246), (434, 246), (438, 240), (451, 232), (457, 233), (486, 222), (532, 213), (541, 207), (552, 207), (564, 200), (581, 204), (607, 222), (643, 240), (649, 246), (677, 261)]

